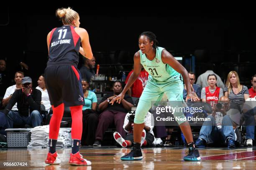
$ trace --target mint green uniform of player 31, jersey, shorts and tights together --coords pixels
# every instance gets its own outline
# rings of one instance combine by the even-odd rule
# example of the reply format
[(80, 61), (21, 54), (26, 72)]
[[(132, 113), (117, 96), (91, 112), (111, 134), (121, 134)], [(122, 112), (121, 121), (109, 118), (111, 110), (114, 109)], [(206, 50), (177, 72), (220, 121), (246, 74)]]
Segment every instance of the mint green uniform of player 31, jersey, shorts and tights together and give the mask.
[[(153, 60), (148, 60), (140, 50), (141, 65), (149, 73), (149, 76), (136, 108), (134, 123), (141, 124), (145, 122), (145, 116), (150, 107), (154, 103), (158, 105), (164, 94), (172, 102), (171, 105), (184, 107), (182, 75), (170, 65), (162, 62), (161, 52), (163, 49), (162, 47), (156, 48), (156, 57)], [(177, 121), (179, 125), (185, 122), (185, 116), (182, 111), (174, 112), (173, 114), (175, 120), (176, 117), (182, 118)]]

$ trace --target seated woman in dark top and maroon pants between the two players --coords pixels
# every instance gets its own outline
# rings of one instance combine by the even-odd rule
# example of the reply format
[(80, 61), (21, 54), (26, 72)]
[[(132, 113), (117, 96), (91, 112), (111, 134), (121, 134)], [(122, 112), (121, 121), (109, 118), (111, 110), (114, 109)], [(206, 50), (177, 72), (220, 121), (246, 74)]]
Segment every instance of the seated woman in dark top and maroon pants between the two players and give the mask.
[(99, 105), (99, 110), (103, 111), (99, 117), (99, 124), (96, 130), (96, 140), (93, 146), (101, 146), (101, 141), (103, 139), (103, 133), (108, 129), (109, 125), (113, 122), (115, 123), (116, 131), (120, 133), (121, 136), (125, 136), (125, 131), (123, 129), (123, 122), (126, 113), (133, 107), (133, 100), (131, 96), (125, 94), (123, 100), (120, 104), (114, 102), (111, 105), (109, 102), (117, 95), (119, 95), (123, 90), (122, 83), (117, 80), (114, 82), (113, 91), (114, 94), (105, 95)]

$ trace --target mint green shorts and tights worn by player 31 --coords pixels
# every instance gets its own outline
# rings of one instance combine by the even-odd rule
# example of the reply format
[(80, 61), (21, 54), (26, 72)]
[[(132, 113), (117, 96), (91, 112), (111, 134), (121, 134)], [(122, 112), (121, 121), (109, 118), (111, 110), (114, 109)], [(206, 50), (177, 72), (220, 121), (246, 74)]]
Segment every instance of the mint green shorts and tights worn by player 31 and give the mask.
[[(183, 81), (177, 76), (165, 82), (160, 82), (154, 79), (148, 80), (144, 88), (135, 113), (134, 123), (141, 124), (145, 121), (148, 110), (152, 105), (158, 105), (164, 93), (167, 95), (171, 107), (186, 107), (183, 100)], [(182, 111), (174, 112), (174, 117), (179, 117), (184, 120), (185, 116)], [(176, 119), (176, 120), (179, 120)], [(185, 121), (177, 121), (180, 125)]]

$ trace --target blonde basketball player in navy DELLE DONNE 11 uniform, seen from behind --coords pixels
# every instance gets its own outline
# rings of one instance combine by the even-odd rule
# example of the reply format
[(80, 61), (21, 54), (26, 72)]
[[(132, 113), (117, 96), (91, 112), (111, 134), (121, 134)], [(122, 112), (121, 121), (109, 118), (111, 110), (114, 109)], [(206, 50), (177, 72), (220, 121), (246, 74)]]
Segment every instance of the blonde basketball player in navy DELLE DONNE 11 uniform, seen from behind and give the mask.
[[(79, 154), (82, 137), (82, 105), (84, 95), (80, 72), (77, 69), (79, 52), (92, 59), (89, 36), (85, 29), (79, 28), (79, 15), (70, 7), (56, 10), (63, 23), (62, 27), (54, 28), (47, 35), (49, 60), (45, 69), (46, 87), (51, 101), (53, 115), (50, 121), (49, 153), (46, 164), (59, 164), (56, 143), (65, 106), (70, 107), (72, 116), (72, 153), (70, 165), (91, 165)], [(80, 47), (82, 43), (82, 47)]]

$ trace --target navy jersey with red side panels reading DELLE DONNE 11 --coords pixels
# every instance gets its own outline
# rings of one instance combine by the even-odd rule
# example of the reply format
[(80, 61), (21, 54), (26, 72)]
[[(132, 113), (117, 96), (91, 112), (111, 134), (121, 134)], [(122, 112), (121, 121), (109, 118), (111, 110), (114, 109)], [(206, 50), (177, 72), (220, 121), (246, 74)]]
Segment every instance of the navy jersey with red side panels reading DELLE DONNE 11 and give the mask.
[(63, 25), (51, 31), (47, 64), (61, 64), (61, 62), (78, 64), (81, 38), (74, 28), (74, 26)]

